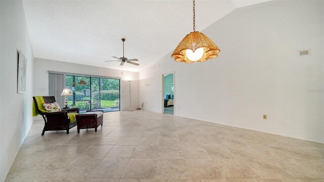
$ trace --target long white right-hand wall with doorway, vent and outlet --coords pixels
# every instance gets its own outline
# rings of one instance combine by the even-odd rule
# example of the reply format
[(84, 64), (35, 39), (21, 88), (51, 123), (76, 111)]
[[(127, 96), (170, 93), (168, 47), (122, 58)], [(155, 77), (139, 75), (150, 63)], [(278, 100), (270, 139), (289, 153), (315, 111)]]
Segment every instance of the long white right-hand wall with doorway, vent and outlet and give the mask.
[[(175, 71), (178, 116), (324, 143), (323, 7), (273, 1), (236, 9), (203, 31), (218, 58), (184, 64), (169, 53), (141, 70), (140, 103), (161, 112), (161, 74)], [(298, 56), (305, 49), (311, 55)]]

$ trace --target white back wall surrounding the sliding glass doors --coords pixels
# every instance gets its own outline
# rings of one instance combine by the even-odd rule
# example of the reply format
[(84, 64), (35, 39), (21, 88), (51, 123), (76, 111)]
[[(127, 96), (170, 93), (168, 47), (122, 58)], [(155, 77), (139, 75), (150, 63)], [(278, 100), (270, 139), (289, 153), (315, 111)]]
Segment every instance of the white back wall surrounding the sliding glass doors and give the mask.
[[(130, 109), (129, 82), (132, 91), (132, 108), (139, 107), (139, 73), (131, 71), (88, 66), (82, 64), (67, 63), (61, 61), (34, 58), (34, 93), (33, 96), (49, 95), (49, 73), (48, 71), (59, 71), (67, 73), (89, 74), (97, 76), (118, 77), (120, 80), (120, 110)], [(42, 92), (42, 90), (44, 90)]]

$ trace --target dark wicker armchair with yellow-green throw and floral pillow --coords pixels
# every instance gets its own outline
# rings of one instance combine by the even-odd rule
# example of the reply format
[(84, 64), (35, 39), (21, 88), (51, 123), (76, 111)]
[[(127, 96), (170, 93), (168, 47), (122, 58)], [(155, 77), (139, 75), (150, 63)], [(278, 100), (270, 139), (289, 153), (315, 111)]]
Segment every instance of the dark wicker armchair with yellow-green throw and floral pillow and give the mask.
[[(53, 130), (66, 130), (69, 133), (69, 129), (76, 126), (75, 116), (79, 113), (78, 108), (62, 109), (59, 112), (46, 112), (43, 108), (44, 103), (55, 103), (54, 96), (36, 96), (33, 97), (34, 109), (39, 115), (42, 115), (45, 125), (42, 132)], [(34, 114), (33, 114), (34, 115)]]

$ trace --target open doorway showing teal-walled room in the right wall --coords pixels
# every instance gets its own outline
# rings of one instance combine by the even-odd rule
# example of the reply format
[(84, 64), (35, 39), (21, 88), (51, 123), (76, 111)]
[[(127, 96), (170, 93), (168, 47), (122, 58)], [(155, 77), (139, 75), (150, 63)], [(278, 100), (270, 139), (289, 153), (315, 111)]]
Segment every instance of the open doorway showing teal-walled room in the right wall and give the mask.
[(174, 72), (162, 75), (163, 79), (163, 113), (174, 115), (175, 84)]

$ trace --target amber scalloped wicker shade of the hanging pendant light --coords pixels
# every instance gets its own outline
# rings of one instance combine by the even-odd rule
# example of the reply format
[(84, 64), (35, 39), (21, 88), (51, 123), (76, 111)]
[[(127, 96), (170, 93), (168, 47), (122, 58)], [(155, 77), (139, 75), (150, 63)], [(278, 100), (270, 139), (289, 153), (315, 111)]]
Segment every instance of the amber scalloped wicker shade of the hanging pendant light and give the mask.
[(177, 62), (193, 63), (186, 56), (186, 50), (192, 50), (193, 52), (198, 48), (204, 49), (203, 57), (198, 62), (207, 61), (208, 59), (217, 58), (217, 54), (220, 52), (217, 45), (204, 33), (195, 31), (187, 34), (179, 43), (177, 48), (171, 55)]

